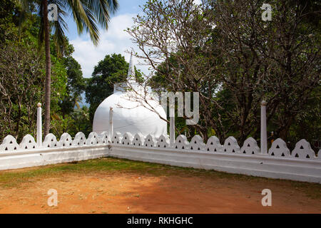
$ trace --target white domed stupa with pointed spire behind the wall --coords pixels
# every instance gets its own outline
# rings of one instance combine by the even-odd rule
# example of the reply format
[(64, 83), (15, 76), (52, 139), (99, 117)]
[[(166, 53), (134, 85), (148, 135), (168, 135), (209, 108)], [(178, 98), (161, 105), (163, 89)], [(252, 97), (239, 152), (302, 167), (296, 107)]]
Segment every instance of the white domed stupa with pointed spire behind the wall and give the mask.
[[(128, 68), (128, 82), (131, 88), (138, 93), (143, 94), (144, 89), (136, 81), (131, 78), (135, 78), (135, 71), (133, 66), (133, 56), (129, 61)], [(128, 84), (125, 84), (128, 85)], [(113, 88), (113, 94), (108, 96), (96, 109), (93, 117), (93, 131), (96, 133), (102, 133), (109, 130), (109, 111), (113, 108), (113, 132), (119, 132), (123, 135), (126, 132), (135, 135), (141, 133), (146, 136), (148, 134), (154, 135), (156, 138), (162, 134), (167, 134), (167, 123), (162, 118), (166, 119), (165, 110), (153, 98), (148, 99), (148, 103), (155, 108), (158, 113), (155, 113), (148, 108), (143, 107), (137, 99), (133, 99), (133, 90), (124, 90), (124, 84), (115, 85)], [(151, 88), (148, 88), (151, 91)], [(136, 95), (137, 98), (137, 95)], [(148, 106), (147, 106), (148, 107)]]

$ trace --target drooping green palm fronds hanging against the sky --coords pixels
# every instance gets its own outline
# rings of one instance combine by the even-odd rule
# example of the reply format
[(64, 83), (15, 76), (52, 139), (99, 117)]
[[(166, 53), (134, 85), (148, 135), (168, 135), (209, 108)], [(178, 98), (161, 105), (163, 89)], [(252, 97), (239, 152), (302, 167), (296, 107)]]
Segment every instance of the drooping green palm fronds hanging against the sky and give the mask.
[[(42, 45), (44, 43), (44, 1), (38, 0), (19, 0), (17, 1), (21, 8), (21, 20), (25, 19), (30, 13), (36, 13), (39, 16), (40, 26), (38, 31), (38, 41)], [(91, 36), (91, 40), (95, 45), (99, 41), (98, 26), (107, 29), (110, 21), (110, 12), (114, 13), (118, 9), (117, 0), (86, 0), (86, 1), (61, 1), (46, 0), (46, 5), (56, 4), (58, 10), (58, 18), (56, 21), (49, 21), (49, 28), (52, 31), (53, 40), (58, 55), (64, 52), (66, 48), (66, 35), (68, 30), (66, 19), (68, 13), (73, 15), (76, 22), (78, 33), (86, 31)]]

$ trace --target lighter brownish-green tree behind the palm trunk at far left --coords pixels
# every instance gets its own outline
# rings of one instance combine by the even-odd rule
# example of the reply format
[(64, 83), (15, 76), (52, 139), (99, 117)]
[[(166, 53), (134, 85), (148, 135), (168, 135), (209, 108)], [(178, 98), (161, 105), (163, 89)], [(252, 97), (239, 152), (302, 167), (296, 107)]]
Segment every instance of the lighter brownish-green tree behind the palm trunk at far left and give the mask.
[[(54, 56), (51, 103), (66, 93), (66, 69)], [(36, 104), (44, 102), (44, 54), (34, 43), (6, 43), (0, 48), (0, 137), (21, 139), (36, 132)]]

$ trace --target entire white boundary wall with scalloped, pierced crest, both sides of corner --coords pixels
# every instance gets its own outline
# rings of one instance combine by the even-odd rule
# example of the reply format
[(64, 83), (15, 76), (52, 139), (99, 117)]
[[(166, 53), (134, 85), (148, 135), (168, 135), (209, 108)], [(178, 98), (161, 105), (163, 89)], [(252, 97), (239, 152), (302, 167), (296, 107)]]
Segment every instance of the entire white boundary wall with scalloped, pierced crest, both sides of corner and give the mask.
[(114, 133), (108, 137), (107, 133), (91, 133), (86, 139), (83, 133), (77, 133), (72, 140), (68, 133), (63, 133), (58, 141), (49, 134), (42, 146), (38, 146), (31, 135), (26, 135), (20, 144), (8, 135), (0, 145), (0, 170), (108, 156), (321, 183), (321, 152), (316, 156), (306, 140), (297, 142), (295, 149), (290, 152), (286, 143), (277, 139), (267, 154), (262, 154), (253, 138), (245, 140), (240, 147), (233, 137), (220, 145), (216, 137), (209, 138), (205, 144), (199, 135), (195, 135), (190, 142), (184, 135), (179, 135), (173, 147), (169, 146), (167, 135), (156, 139), (153, 135), (144, 138), (141, 134)]

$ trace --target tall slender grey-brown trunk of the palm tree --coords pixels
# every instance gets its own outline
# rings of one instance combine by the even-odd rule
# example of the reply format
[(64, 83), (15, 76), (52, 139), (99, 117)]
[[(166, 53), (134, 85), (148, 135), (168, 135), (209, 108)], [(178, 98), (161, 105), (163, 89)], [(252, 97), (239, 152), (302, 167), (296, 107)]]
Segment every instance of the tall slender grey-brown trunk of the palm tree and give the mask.
[(46, 51), (46, 81), (45, 81), (45, 121), (44, 135), (49, 134), (50, 130), (50, 98), (51, 98), (51, 58), (50, 58), (50, 40), (49, 40), (49, 21), (48, 21), (48, 2), (44, 2), (44, 33), (45, 33), (45, 51)]

